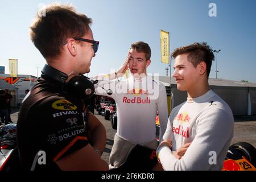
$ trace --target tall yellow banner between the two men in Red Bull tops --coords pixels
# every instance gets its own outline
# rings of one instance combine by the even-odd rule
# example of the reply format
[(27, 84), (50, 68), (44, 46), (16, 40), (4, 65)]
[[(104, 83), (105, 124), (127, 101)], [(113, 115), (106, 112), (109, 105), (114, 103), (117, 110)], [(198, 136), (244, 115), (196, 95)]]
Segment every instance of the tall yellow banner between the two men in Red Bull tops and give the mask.
[(161, 44), (161, 62), (169, 63), (170, 45), (169, 45), (169, 32), (160, 31), (160, 44)]

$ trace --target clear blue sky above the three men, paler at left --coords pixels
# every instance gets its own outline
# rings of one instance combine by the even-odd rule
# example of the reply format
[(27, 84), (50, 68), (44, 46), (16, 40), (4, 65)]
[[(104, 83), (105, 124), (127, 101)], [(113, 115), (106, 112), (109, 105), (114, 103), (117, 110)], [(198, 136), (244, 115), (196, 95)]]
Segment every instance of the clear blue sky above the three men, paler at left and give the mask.
[[(1, 1), (0, 65), (9, 73), (9, 59), (18, 59), (18, 73), (38, 76), (45, 60), (30, 41), (28, 27), (40, 3), (55, 1)], [(148, 73), (166, 75), (160, 63), (160, 29), (170, 32), (171, 52), (193, 42), (207, 42), (218, 53), (218, 78), (256, 82), (256, 1), (208, 0), (86, 0), (69, 2), (93, 19), (94, 39), (100, 41), (88, 76), (118, 69), (130, 44), (147, 42), (152, 51)], [(210, 17), (216, 3), (217, 17)], [(173, 63), (172, 63), (173, 65)], [(215, 78), (213, 62), (210, 78)], [(173, 72), (173, 68), (171, 70)], [(170, 73), (170, 71), (169, 71)]]

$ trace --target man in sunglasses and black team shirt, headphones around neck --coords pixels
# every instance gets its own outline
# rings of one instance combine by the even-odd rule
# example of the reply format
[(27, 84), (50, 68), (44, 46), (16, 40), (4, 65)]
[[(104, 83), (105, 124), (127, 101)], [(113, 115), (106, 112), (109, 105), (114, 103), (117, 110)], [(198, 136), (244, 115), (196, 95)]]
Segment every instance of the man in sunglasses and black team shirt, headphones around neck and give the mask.
[[(20, 109), (20, 162), (26, 170), (107, 170), (101, 159), (106, 130), (69, 89), (75, 86), (74, 77), (85, 78), (98, 49), (92, 20), (69, 5), (52, 4), (45, 12), (30, 27), (31, 40), (47, 65)], [(86, 94), (92, 89), (88, 86)]]

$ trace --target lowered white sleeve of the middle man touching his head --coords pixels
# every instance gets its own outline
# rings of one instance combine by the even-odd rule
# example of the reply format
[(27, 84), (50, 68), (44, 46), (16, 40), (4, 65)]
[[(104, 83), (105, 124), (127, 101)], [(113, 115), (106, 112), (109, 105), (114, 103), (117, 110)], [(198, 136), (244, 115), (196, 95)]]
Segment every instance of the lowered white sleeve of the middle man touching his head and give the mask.
[(159, 97), (158, 97), (158, 114), (160, 123), (160, 134), (159, 139), (162, 139), (168, 122), (168, 105), (167, 105), (167, 94), (166, 87), (159, 85)]

